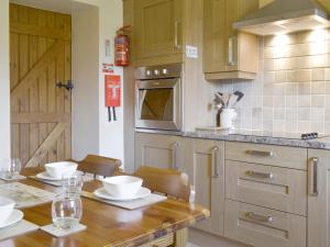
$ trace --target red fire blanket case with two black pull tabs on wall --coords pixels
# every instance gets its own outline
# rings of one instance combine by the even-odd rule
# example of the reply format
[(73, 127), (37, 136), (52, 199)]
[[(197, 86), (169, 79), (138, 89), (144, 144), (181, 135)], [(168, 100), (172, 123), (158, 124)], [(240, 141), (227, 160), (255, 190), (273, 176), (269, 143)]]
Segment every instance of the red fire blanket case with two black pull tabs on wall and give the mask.
[[(105, 90), (106, 90), (106, 106), (108, 108), (109, 122), (117, 121), (116, 108), (121, 104), (121, 83), (120, 76), (106, 75), (105, 76)], [(112, 111), (112, 113), (111, 113)]]

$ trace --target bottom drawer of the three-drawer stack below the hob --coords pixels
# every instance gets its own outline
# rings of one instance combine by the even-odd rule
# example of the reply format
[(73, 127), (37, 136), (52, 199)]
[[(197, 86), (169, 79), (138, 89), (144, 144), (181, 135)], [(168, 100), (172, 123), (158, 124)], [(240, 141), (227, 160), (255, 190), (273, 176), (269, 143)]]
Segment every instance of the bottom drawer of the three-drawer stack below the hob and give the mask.
[(254, 247), (306, 247), (306, 217), (226, 200), (224, 236)]

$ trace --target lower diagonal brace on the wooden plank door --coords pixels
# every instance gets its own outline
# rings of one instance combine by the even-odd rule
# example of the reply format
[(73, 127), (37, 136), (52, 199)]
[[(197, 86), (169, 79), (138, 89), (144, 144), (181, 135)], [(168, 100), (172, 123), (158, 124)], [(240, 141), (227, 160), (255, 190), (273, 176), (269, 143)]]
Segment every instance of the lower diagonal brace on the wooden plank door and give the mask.
[(36, 167), (48, 153), (50, 148), (57, 142), (57, 138), (63, 134), (65, 127), (65, 123), (58, 123), (53, 132), (47, 136), (45, 142), (43, 142), (43, 144), (36, 149), (34, 155), (26, 162), (25, 167)]

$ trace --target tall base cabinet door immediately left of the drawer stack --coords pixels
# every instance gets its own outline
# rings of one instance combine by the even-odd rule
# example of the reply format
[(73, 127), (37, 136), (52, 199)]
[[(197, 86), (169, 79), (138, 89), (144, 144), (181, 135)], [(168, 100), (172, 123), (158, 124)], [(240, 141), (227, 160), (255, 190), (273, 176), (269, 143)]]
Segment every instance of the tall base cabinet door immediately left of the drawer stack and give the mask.
[(210, 210), (211, 217), (194, 227), (223, 236), (224, 143), (185, 139), (185, 170), (195, 186), (196, 203)]

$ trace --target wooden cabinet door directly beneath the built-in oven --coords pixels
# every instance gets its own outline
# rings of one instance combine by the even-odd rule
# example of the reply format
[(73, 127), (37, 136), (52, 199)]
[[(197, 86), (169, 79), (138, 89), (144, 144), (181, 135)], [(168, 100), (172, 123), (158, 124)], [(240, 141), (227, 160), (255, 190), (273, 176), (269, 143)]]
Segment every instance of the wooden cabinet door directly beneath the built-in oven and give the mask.
[(182, 137), (156, 134), (135, 134), (135, 169), (151, 166), (182, 170)]

